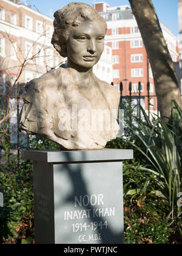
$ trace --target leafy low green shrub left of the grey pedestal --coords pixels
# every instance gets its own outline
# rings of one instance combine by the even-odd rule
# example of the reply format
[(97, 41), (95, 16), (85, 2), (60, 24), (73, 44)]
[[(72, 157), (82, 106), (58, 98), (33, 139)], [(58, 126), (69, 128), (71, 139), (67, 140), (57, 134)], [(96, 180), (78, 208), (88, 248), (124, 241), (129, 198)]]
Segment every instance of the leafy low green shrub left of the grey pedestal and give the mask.
[[(12, 160), (12, 159), (11, 159)], [(11, 167), (11, 166), (12, 167)], [(19, 232), (32, 236), (33, 227), (33, 168), (32, 163), (23, 160), (17, 165), (17, 158), (8, 166), (0, 168), (0, 187), (4, 194), (4, 207), (0, 208), (0, 239), (18, 241)], [(26, 228), (27, 227), (27, 228)]]

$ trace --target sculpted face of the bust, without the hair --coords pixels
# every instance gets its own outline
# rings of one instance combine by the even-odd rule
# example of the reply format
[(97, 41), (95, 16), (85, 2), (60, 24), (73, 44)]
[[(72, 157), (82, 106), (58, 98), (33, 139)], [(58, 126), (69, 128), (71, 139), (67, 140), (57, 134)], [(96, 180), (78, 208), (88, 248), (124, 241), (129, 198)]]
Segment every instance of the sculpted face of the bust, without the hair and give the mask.
[(106, 26), (102, 20), (83, 21), (67, 40), (68, 66), (90, 69), (104, 51)]

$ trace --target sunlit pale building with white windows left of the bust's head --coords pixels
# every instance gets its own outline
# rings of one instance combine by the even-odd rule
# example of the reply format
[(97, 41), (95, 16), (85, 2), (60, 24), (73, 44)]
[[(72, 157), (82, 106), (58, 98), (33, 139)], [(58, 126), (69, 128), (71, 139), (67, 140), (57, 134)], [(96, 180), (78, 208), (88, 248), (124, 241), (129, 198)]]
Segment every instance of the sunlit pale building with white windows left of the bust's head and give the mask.
[(0, 0), (1, 74), (28, 82), (62, 63), (50, 43), (53, 19), (19, 1)]

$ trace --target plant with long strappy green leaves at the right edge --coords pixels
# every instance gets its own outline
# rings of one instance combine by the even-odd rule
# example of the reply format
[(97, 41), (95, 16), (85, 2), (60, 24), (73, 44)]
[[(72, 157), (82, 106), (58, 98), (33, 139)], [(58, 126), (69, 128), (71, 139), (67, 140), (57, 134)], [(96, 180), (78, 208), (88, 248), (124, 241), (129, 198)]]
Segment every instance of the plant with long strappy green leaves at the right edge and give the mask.
[[(140, 166), (138, 168), (140, 171), (148, 172), (149, 174), (149, 179), (147, 179), (143, 185), (143, 193), (150, 184), (150, 180), (155, 182), (158, 190), (152, 190), (151, 193), (157, 194), (167, 202), (172, 223), (177, 222), (178, 229), (182, 236), (181, 218), (178, 218), (181, 208), (177, 205), (178, 193), (182, 191), (182, 140), (180, 133), (182, 112), (178, 105), (172, 102), (172, 123), (166, 124), (158, 117), (155, 123), (152, 124), (143, 109), (142, 111), (146, 126), (145, 129), (143, 129), (143, 126), (138, 123), (136, 136), (140, 139), (143, 147), (139, 147), (132, 141), (128, 142), (149, 162), (149, 165), (145, 167)], [(152, 177), (151, 174), (153, 174)]]

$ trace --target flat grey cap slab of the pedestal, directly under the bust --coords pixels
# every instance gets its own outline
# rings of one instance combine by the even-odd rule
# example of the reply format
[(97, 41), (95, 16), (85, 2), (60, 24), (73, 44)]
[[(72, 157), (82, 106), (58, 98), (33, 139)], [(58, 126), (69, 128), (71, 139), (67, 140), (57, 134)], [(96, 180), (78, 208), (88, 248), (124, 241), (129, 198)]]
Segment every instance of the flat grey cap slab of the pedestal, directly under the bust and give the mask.
[(94, 151), (25, 151), (27, 160), (47, 163), (118, 162), (133, 159), (131, 149), (101, 149)]

